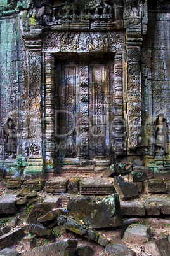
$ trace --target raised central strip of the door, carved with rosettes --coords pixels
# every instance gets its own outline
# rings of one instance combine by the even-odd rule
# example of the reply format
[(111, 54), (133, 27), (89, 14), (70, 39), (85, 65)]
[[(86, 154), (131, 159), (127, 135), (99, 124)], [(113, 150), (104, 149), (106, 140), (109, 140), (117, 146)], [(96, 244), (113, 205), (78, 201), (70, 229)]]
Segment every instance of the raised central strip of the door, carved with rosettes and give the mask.
[(81, 157), (88, 156), (88, 85), (89, 85), (89, 78), (88, 78), (88, 64), (80, 64), (80, 122), (79, 122), (79, 134), (80, 134), (80, 151)]

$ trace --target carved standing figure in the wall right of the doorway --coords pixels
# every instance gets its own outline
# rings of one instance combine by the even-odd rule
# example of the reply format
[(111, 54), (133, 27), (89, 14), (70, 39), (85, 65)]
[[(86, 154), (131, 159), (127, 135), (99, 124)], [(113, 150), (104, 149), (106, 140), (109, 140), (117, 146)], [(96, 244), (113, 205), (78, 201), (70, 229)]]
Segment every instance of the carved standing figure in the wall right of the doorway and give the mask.
[(167, 124), (164, 115), (161, 113), (155, 120), (155, 145), (158, 154), (165, 153), (167, 142)]

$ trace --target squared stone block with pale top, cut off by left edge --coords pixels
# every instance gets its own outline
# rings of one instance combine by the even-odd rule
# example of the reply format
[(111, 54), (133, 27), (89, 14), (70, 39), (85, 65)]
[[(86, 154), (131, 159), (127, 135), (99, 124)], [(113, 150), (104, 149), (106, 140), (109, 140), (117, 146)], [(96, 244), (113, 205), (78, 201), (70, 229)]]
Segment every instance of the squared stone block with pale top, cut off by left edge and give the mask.
[(0, 215), (16, 213), (16, 196), (10, 193), (4, 193), (0, 197)]

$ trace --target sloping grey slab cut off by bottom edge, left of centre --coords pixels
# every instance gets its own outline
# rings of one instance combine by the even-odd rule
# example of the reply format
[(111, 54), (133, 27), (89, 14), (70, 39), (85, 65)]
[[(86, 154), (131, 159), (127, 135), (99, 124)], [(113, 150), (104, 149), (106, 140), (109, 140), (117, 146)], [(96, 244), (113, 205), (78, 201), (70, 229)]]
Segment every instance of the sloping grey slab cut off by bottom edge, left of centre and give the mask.
[(75, 239), (63, 239), (56, 243), (51, 243), (49, 245), (44, 245), (27, 252), (23, 252), (22, 256), (74, 256), (77, 243), (78, 241)]

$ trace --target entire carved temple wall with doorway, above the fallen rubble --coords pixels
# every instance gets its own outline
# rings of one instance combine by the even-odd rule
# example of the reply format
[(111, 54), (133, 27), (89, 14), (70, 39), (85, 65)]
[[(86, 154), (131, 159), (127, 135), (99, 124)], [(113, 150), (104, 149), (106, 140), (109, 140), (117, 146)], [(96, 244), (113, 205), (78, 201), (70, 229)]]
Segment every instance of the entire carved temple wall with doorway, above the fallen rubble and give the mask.
[(2, 168), (168, 166), (166, 0), (3, 1), (0, 15)]

